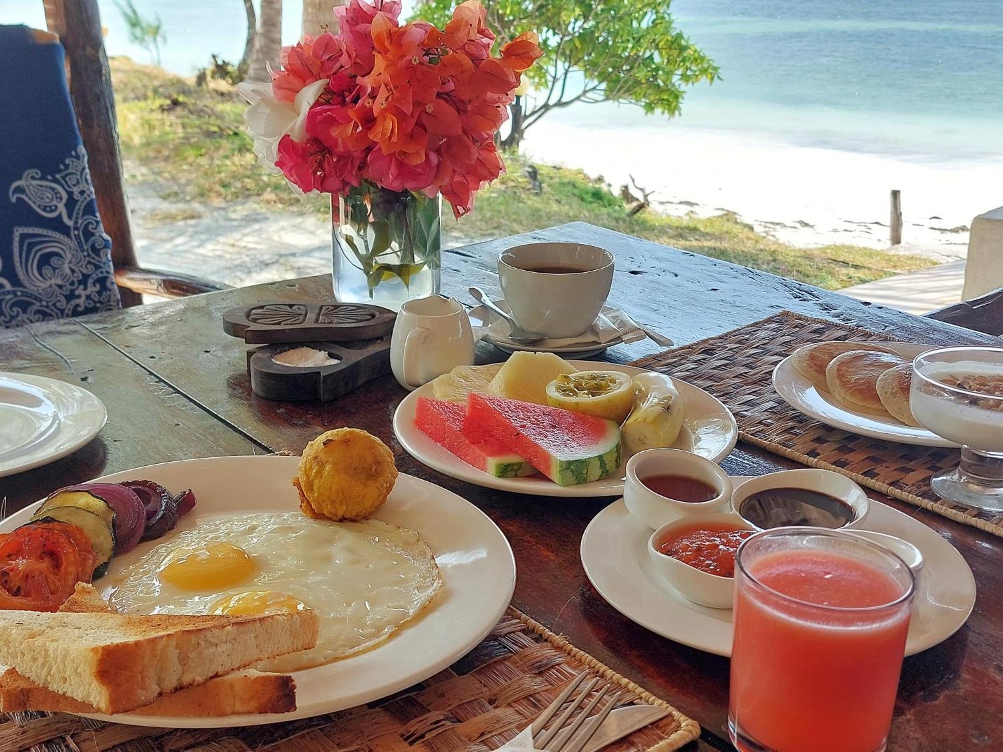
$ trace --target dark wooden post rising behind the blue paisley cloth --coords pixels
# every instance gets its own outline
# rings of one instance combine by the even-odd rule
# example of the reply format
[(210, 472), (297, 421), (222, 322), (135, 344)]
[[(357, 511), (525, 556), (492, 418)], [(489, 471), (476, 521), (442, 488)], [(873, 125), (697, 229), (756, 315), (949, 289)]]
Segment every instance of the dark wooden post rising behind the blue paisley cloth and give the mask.
[[(59, 35), (69, 64), (69, 92), (76, 110), (83, 147), (87, 149), (90, 180), (104, 232), (111, 238), (111, 261), (116, 269), (135, 267), (135, 249), (129, 225), (111, 72), (101, 38), (97, 0), (45, 0), (49, 31)], [(142, 297), (119, 288), (123, 306), (142, 303)]]

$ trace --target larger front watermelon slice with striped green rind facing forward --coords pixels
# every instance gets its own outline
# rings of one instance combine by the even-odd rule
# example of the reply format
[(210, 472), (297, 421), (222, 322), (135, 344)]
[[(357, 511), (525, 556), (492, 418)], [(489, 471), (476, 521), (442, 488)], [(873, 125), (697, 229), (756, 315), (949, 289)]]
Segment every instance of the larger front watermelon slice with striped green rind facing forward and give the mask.
[(599, 480), (620, 468), (620, 426), (612, 420), (471, 393), (463, 428), (493, 436), (558, 485)]

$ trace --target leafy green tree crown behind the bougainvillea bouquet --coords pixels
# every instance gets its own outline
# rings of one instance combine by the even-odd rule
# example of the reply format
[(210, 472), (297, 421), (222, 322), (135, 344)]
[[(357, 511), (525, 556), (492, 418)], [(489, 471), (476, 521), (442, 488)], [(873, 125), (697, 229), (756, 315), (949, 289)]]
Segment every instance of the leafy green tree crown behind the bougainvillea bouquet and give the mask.
[[(444, 23), (455, 0), (419, 0), (415, 15)], [(676, 115), (688, 86), (713, 82), (717, 66), (675, 26), (672, 0), (490, 0), (498, 43), (536, 31), (544, 57), (528, 76), (534, 91), (513, 105), (506, 145), (548, 112), (574, 102), (616, 101)]]

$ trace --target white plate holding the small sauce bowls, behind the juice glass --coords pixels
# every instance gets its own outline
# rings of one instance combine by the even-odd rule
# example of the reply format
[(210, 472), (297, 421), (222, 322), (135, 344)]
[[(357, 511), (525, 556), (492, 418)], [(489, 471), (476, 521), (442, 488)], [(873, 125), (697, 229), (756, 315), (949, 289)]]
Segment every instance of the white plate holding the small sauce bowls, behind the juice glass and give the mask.
[[(737, 485), (745, 477), (734, 477)], [(932, 648), (961, 629), (975, 606), (975, 578), (957, 549), (932, 528), (871, 499), (867, 529), (909, 540), (926, 559), (909, 625), (906, 655)], [(651, 528), (623, 499), (607, 506), (582, 535), (582, 565), (610, 606), (655, 634), (718, 656), (731, 655), (731, 611), (687, 601), (651, 566)]]

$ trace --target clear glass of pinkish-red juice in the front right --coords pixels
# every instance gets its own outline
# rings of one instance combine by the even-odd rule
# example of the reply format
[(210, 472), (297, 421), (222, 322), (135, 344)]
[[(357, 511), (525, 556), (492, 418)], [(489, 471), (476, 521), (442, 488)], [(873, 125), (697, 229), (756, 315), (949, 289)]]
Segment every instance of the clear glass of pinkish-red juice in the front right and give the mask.
[(728, 727), (742, 752), (880, 752), (916, 585), (864, 538), (778, 527), (735, 556)]

